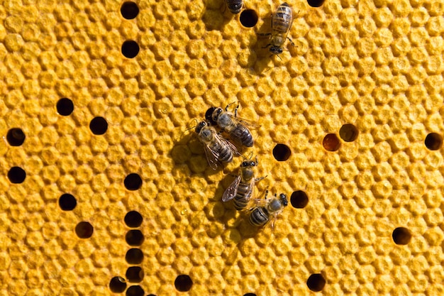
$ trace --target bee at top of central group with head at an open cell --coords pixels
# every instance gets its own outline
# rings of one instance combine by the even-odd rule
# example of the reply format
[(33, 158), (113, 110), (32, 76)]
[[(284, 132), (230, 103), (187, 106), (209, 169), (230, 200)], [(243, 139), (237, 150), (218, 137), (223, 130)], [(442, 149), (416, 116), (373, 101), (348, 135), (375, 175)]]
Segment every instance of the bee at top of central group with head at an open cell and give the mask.
[(250, 130), (246, 126), (248, 123), (243, 119), (237, 119), (239, 105), (234, 109), (234, 116), (228, 112), (228, 106), (230, 105), (226, 106), (225, 111), (221, 107), (211, 107), (206, 111), (205, 119), (228, 133), (228, 136), (235, 143), (245, 147), (252, 147), (254, 141)]

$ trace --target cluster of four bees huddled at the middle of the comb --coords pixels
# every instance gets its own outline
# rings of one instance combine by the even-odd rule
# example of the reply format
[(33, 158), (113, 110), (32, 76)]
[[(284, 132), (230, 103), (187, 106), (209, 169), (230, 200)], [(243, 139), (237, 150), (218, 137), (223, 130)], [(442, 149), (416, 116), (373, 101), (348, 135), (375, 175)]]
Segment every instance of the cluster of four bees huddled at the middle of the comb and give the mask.
[[(254, 143), (248, 126), (255, 125), (238, 118), (239, 106), (236, 106), (234, 114), (228, 111), (229, 106), (226, 106), (225, 111), (220, 107), (209, 108), (205, 114), (206, 120), (197, 124), (195, 129), (199, 141), (204, 144), (206, 159), (213, 170), (216, 170), (220, 163), (230, 163), (233, 155), (240, 155), (237, 147), (252, 147)], [(216, 131), (216, 127), (220, 131)], [(226, 133), (233, 143), (223, 138), (222, 133)], [(287, 207), (287, 196), (282, 193), (279, 197), (275, 195), (274, 198), (267, 199), (267, 190), (264, 199), (254, 198), (255, 182), (266, 177), (255, 177), (254, 168), (257, 164), (257, 158), (241, 163), (239, 175), (223, 192), (222, 201), (233, 199), (235, 209), (248, 213), (252, 226), (264, 226), (272, 221), (274, 227), (277, 215)], [(250, 202), (254, 204), (252, 207)]]

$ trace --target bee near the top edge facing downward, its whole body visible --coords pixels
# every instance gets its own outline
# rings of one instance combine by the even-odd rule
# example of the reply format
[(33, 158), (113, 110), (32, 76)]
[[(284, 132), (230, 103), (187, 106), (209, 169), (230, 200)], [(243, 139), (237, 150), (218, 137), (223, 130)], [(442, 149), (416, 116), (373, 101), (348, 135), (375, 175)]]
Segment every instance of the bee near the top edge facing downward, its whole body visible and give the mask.
[(270, 46), (270, 53), (272, 55), (279, 55), (282, 53), (282, 45), (286, 39), (290, 40), (294, 46), (292, 39), (287, 37), (290, 28), (293, 24), (293, 11), (292, 8), (286, 3), (282, 3), (277, 7), (277, 10), (272, 14), (272, 33), (260, 34), (260, 35), (271, 35), (270, 43), (268, 43), (264, 48)]

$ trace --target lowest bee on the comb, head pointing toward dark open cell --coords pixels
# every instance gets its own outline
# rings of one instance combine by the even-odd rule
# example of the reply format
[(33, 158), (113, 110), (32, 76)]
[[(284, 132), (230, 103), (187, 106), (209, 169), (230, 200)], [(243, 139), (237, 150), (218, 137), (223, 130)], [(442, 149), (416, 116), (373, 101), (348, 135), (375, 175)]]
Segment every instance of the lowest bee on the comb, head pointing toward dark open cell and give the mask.
[(249, 221), (252, 226), (258, 227), (272, 221), (272, 229), (274, 229), (274, 221), (282, 209), (287, 207), (288, 199), (284, 193), (279, 194), (279, 197), (274, 194), (273, 199), (267, 199), (267, 194), (268, 190), (265, 192), (265, 199), (254, 199), (256, 206), (250, 209)]

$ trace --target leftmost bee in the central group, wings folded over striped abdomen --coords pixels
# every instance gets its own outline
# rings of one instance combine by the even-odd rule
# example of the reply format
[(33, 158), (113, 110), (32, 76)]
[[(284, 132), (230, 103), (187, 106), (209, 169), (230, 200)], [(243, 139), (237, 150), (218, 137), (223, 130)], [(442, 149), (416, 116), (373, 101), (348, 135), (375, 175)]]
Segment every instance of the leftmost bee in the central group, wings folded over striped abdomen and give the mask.
[(216, 170), (219, 161), (230, 163), (233, 160), (233, 153), (238, 153), (235, 146), (219, 136), (213, 126), (209, 126), (206, 121), (197, 124), (196, 133), (199, 136), (199, 141), (204, 144), (206, 160), (213, 170)]

